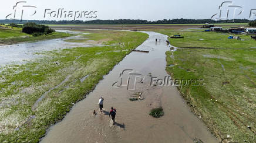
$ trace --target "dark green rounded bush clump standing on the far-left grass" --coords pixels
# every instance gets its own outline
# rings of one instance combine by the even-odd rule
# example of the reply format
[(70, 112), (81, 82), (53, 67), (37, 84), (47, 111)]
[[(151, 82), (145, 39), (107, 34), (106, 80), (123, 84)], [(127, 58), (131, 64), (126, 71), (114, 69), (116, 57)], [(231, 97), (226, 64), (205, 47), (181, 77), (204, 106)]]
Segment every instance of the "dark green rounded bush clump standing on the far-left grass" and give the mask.
[(50, 34), (55, 30), (50, 29), (49, 26), (37, 25), (36, 23), (29, 22), (23, 25), (23, 33), (32, 34), (33, 36), (41, 36), (43, 34)]

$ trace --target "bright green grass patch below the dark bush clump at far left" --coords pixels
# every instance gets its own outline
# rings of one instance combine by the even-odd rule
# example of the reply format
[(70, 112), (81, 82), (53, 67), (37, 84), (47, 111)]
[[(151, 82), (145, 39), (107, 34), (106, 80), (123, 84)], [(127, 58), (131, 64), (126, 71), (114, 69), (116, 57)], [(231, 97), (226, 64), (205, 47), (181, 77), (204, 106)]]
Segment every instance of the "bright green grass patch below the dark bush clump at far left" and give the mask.
[(68, 33), (60, 33), (54, 32), (52, 34), (33, 37), (29, 34), (22, 33), (22, 29), (16, 27), (8, 27), (0, 28), (0, 44), (14, 44), (14, 43), (21, 43), (21, 42), (32, 42), (32, 41), (39, 41), (39, 40), (48, 40), (48, 39), (59, 39), (64, 37), (69, 37), (71, 34)]

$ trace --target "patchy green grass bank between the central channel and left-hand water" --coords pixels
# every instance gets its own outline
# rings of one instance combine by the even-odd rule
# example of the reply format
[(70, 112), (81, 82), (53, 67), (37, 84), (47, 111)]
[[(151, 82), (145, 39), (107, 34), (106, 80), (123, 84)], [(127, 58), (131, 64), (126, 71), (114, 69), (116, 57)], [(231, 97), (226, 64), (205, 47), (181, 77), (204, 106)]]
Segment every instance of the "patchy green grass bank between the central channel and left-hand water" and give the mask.
[[(148, 38), (147, 34), (137, 32), (109, 32), (102, 38), (110, 34), (115, 35), (116, 43), (123, 44), (48, 51), (39, 53), (45, 57), (36, 61), (3, 67), (0, 142), (39, 142), (46, 129), (61, 120), (72, 103), (84, 99), (103, 75)], [(32, 110), (36, 100), (47, 91), (50, 92)]]

